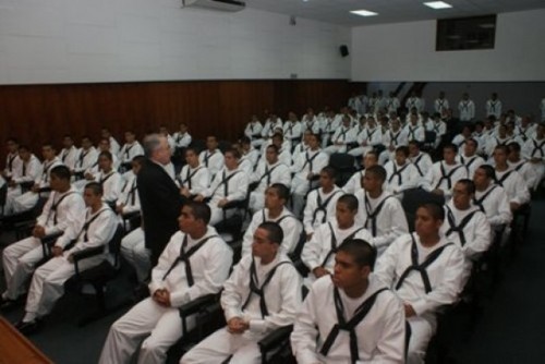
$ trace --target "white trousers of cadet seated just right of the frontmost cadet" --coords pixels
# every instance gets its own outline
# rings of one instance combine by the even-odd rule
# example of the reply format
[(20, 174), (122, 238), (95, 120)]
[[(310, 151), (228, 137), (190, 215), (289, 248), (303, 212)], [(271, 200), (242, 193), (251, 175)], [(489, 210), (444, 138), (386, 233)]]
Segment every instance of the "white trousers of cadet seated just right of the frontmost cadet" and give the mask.
[(432, 314), (424, 316), (412, 316), (407, 319), (411, 325), (411, 339), (407, 353), (407, 364), (424, 364), (426, 350), (435, 333), (436, 319)]

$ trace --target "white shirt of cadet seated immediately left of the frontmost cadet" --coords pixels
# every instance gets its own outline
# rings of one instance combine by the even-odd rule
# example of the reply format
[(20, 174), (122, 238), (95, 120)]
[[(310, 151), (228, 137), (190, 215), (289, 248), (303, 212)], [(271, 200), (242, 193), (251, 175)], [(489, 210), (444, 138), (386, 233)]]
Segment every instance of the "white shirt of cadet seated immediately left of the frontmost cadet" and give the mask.
[[(262, 283), (268, 274), (276, 268), (276, 271), (264, 290), (264, 299), (268, 315), (263, 317), (259, 308), (259, 296), (250, 290), (251, 265), (255, 262), (256, 286), (262, 288)], [(263, 335), (274, 329), (291, 325), (295, 321), (295, 316), (301, 307), (301, 276), (298, 274), (291, 260), (283, 254), (278, 254), (276, 258), (267, 265), (262, 265), (259, 258), (252, 255), (243, 257), (234, 267), (233, 272), (223, 286), (221, 293), (221, 307), (229, 321), (233, 317), (241, 317), (250, 323), (250, 336), (263, 337)], [(242, 308), (250, 296), (247, 305)], [(246, 333), (244, 333), (246, 335)]]

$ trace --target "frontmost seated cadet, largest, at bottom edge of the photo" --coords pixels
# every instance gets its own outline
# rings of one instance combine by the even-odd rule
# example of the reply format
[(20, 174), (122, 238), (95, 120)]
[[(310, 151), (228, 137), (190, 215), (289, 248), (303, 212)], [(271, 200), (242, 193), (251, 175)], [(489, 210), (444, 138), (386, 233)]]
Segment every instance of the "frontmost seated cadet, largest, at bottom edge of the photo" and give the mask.
[(331, 277), (311, 288), (291, 333), (300, 364), (404, 363), (401, 301), (372, 274), (376, 253), (362, 240), (340, 244)]

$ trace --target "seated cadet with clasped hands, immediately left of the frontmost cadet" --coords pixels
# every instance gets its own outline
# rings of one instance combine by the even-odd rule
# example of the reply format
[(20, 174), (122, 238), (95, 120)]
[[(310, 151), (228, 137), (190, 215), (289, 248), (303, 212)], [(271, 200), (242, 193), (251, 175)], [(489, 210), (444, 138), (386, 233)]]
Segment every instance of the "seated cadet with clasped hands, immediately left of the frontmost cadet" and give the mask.
[(257, 342), (295, 321), (301, 276), (281, 253), (282, 240), (282, 229), (276, 222), (257, 228), (252, 255), (241, 259), (223, 286), (221, 307), (227, 327), (201, 341), (180, 363), (222, 363), (231, 355), (231, 363), (258, 363)]

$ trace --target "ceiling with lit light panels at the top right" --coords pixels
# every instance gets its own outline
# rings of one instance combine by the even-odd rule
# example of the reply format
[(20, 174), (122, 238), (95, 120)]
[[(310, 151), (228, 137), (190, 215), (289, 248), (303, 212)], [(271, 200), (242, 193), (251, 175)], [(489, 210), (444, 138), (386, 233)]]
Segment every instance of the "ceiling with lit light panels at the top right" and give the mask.
[[(544, 0), (444, 0), (452, 8), (433, 10), (422, 4), (425, 1), (432, 0), (245, 0), (249, 8), (346, 26), (464, 17), (545, 8)], [(378, 15), (363, 17), (350, 13), (351, 10), (360, 9), (376, 12)]]

